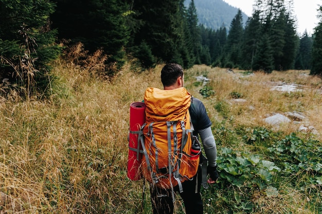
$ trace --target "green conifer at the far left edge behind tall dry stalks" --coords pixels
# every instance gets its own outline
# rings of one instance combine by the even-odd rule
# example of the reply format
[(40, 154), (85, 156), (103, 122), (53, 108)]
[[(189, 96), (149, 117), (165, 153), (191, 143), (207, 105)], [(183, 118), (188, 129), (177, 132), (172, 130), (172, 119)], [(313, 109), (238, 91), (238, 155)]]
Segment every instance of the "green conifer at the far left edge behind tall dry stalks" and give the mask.
[(0, 79), (26, 88), (32, 79), (39, 92), (48, 86), (49, 62), (60, 53), (50, 28), (54, 9), (50, 1), (0, 0)]

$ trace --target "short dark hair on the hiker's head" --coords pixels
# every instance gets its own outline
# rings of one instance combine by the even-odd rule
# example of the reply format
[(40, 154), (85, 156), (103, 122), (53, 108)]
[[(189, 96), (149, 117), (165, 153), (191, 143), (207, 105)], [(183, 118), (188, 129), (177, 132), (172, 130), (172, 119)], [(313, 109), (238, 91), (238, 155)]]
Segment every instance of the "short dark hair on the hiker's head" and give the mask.
[(183, 77), (183, 68), (181, 65), (170, 63), (161, 70), (161, 82), (164, 87), (172, 86), (178, 77)]

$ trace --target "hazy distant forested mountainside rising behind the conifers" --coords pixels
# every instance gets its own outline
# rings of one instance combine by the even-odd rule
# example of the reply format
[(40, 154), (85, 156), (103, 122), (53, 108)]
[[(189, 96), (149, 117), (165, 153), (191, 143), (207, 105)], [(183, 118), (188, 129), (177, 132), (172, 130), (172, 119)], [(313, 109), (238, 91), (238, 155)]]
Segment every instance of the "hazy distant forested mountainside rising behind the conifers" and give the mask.
[[(185, 1), (188, 8), (191, 0)], [(206, 28), (214, 30), (220, 27), (230, 27), (231, 20), (237, 14), (238, 8), (232, 7), (223, 0), (194, 0), (194, 5), (198, 13), (199, 23)], [(245, 24), (248, 16), (242, 13), (243, 23)]]

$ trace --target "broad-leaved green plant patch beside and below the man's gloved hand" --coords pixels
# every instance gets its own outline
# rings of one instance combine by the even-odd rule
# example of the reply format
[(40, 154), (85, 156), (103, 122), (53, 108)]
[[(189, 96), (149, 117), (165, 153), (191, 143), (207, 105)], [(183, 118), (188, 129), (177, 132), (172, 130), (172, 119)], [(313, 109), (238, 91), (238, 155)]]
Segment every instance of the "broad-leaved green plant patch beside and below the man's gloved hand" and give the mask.
[(223, 191), (217, 197), (226, 203), (231, 213), (252, 212), (257, 206), (252, 200), (255, 192), (273, 189), (278, 194), (272, 183), (274, 174), (281, 169), (274, 162), (264, 160), (261, 155), (239, 154), (231, 148), (223, 147), (217, 164), (220, 179), (216, 185)]

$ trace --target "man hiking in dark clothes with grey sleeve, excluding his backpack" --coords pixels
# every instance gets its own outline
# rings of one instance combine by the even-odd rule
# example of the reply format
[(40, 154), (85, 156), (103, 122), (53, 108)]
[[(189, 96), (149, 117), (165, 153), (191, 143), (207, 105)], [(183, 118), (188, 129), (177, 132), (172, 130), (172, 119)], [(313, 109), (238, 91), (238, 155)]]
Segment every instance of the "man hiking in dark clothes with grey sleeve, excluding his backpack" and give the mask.
[[(161, 71), (161, 81), (164, 90), (173, 90), (184, 86), (183, 68), (178, 64), (167, 64)], [(217, 148), (216, 142), (211, 131), (211, 121), (207, 115), (204, 104), (196, 98), (192, 97), (189, 108), (192, 125), (194, 127), (194, 135), (199, 134), (208, 159), (207, 172), (210, 175), (209, 184), (215, 183), (218, 179), (217, 174)], [(197, 173), (192, 180), (182, 183), (183, 192), (180, 193), (184, 201), (186, 214), (203, 214), (203, 202), (200, 194), (201, 173)], [(196, 181), (199, 181), (196, 184)], [(198, 185), (198, 192), (195, 187)], [(178, 186), (174, 187), (178, 191)], [(173, 201), (171, 197), (171, 189), (158, 188), (156, 185), (150, 186), (151, 202), (154, 214), (173, 213)]]

